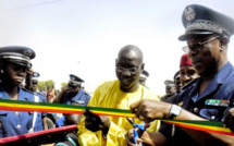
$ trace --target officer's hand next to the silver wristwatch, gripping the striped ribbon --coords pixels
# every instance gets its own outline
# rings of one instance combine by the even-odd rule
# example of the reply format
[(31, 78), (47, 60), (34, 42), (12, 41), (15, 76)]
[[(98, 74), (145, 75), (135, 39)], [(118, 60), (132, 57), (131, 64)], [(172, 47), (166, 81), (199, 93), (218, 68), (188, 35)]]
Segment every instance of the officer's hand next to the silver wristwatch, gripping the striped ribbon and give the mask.
[(171, 104), (163, 101), (141, 99), (132, 104), (130, 108), (139, 120), (143, 120), (145, 123), (150, 123), (156, 119), (169, 118), (171, 106)]

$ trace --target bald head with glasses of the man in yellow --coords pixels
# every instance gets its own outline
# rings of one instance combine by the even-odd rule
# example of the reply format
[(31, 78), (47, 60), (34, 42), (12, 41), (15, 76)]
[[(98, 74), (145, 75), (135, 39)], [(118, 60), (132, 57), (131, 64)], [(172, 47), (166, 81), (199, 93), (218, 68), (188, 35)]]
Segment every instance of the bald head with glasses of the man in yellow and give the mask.
[(120, 81), (122, 92), (132, 93), (139, 86), (139, 75), (143, 72), (143, 52), (134, 46), (124, 46), (116, 59), (115, 73)]

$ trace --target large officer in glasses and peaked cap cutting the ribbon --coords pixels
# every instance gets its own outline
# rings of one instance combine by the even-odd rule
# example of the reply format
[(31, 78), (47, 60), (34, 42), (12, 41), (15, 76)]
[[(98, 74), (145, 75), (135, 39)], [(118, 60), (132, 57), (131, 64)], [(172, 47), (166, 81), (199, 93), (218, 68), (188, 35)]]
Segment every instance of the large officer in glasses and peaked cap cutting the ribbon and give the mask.
[[(151, 100), (133, 104), (131, 110), (137, 117), (143, 115), (146, 123), (158, 118), (223, 121), (225, 112), (233, 107), (219, 102), (231, 102), (234, 98), (234, 68), (226, 54), (230, 37), (234, 34), (234, 20), (198, 4), (186, 7), (182, 20), (186, 32), (178, 39), (187, 41), (188, 57), (200, 77), (180, 94), (177, 105)], [(234, 137), (229, 135), (177, 126), (172, 134), (171, 130), (171, 125), (164, 123), (158, 133), (148, 133), (153, 138), (148, 138), (147, 143), (234, 145)], [(128, 145), (132, 145), (132, 131), (127, 137)]]

